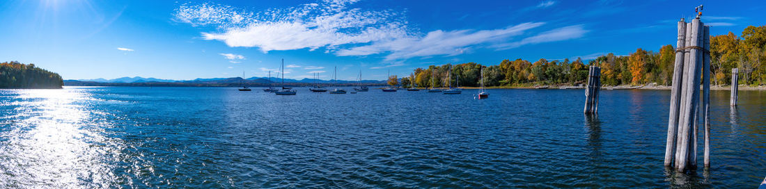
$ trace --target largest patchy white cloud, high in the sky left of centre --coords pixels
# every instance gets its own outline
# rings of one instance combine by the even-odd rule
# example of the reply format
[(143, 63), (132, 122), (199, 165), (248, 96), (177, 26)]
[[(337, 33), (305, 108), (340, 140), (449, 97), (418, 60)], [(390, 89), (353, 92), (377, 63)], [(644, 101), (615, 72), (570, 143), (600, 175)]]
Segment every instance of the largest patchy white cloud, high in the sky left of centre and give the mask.
[(347, 8), (356, 1), (324, 1), (286, 9), (248, 13), (226, 5), (182, 5), (175, 20), (214, 25), (218, 32), (203, 32), (205, 40), (223, 41), (230, 47), (258, 47), (260, 51), (283, 51), (342, 44), (361, 44), (408, 34), (398, 11), (363, 11)]

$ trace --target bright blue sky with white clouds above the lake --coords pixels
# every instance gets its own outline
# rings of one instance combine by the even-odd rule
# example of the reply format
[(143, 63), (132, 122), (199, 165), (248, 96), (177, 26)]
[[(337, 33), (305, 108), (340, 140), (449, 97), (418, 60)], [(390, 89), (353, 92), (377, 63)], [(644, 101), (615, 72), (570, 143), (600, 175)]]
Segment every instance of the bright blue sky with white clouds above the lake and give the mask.
[(584, 59), (675, 44), (704, 4), (712, 34), (763, 25), (743, 1), (96, 1), (0, 2), (0, 61), (64, 79), (191, 80), (276, 75), (383, 80), (430, 64)]

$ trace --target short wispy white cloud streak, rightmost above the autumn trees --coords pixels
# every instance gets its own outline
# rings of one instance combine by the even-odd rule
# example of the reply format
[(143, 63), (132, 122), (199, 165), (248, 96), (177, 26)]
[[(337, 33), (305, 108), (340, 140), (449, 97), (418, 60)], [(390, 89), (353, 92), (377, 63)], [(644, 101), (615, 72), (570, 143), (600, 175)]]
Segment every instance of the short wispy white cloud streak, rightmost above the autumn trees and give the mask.
[(526, 37), (522, 41), (516, 41), (506, 44), (498, 44), (494, 47), (499, 50), (521, 47), (525, 44), (540, 44), (553, 41), (565, 41), (570, 39), (576, 39), (583, 37), (585, 33), (588, 33), (582, 25), (572, 25), (563, 28), (556, 28), (551, 31), (545, 31), (532, 37)]

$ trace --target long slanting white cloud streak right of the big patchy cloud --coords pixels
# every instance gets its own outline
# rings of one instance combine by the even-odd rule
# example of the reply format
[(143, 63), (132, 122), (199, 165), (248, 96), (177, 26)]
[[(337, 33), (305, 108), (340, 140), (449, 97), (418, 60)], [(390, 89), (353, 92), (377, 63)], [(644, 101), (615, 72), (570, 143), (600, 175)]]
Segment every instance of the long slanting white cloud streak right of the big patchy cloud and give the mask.
[(425, 37), (404, 37), (393, 41), (381, 41), (361, 47), (352, 47), (336, 52), (339, 56), (360, 56), (391, 52), (385, 60), (401, 60), (410, 57), (433, 55), (453, 56), (470, 51), (470, 46), (491, 41), (503, 41), (508, 37), (523, 34), (532, 28), (545, 24), (528, 22), (495, 30), (431, 31)]

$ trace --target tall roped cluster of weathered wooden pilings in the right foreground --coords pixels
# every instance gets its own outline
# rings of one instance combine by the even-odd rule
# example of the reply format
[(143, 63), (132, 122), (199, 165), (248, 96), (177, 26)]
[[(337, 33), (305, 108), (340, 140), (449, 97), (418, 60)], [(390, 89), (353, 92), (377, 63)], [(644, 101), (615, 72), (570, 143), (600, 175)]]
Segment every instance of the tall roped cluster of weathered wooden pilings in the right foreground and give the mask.
[[(677, 171), (697, 166), (699, 112), (705, 122), (705, 167), (709, 167), (710, 39), (709, 27), (699, 17), (678, 22), (676, 62), (670, 92), (665, 166)], [(702, 74), (702, 76), (701, 76)], [(702, 80), (700, 80), (702, 78)], [(702, 84), (702, 107), (699, 85)], [(675, 162), (675, 165), (673, 165)]]

